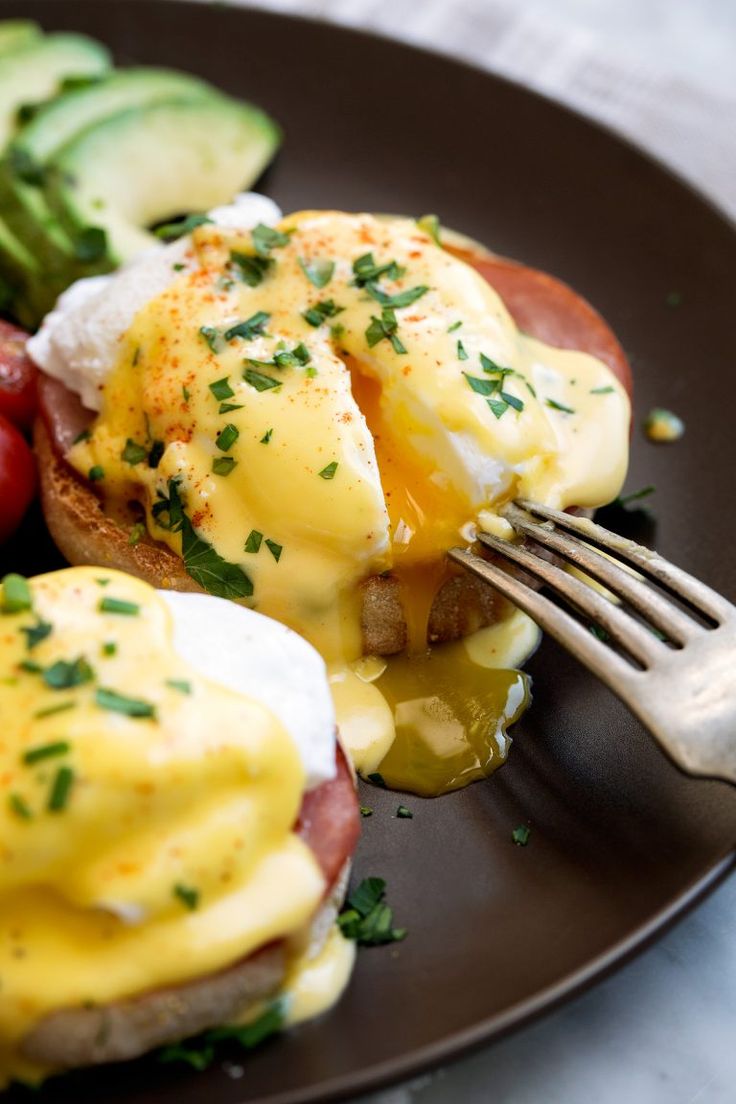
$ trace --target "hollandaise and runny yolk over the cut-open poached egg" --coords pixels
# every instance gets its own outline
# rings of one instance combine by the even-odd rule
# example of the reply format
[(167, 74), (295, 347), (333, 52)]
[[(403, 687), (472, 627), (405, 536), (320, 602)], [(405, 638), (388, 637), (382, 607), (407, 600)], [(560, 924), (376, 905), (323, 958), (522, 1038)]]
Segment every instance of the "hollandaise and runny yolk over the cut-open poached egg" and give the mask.
[[(447, 549), (497, 524), (514, 495), (563, 508), (608, 501), (626, 473), (628, 426), (628, 397), (605, 364), (521, 335), (478, 273), (416, 223), (307, 211), (266, 240), (194, 232), (186, 272), (135, 319), (102, 414), (70, 459), (104, 473), (95, 487), (108, 509), (138, 500), (149, 534), (183, 554), (201, 585), (319, 648), (359, 769), (375, 768), (396, 736), (386, 777), (437, 793), (501, 761), (497, 730), (525, 700), (510, 704), (518, 675), (490, 677), (462, 646), (422, 658), (452, 574)], [(408, 658), (388, 659), (370, 683), (353, 670), (361, 584), (382, 573), (401, 587)], [(438, 679), (447, 745), (438, 707), (417, 757), (399, 713)], [(388, 720), (375, 697), (367, 704), (382, 691)], [(410, 769), (399, 771), (402, 756)]]

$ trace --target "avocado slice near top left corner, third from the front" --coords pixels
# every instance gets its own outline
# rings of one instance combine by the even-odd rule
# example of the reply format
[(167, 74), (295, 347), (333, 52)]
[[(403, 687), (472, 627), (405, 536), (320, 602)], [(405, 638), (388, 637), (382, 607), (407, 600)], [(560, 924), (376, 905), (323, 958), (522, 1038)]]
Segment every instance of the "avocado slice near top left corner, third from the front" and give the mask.
[(47, 34), (0, 56), (0, 147), (15, 130), (18, 109), (56, 92), (68, 76), (90, 76), (109, 67), (105, 46), (83, 34)]

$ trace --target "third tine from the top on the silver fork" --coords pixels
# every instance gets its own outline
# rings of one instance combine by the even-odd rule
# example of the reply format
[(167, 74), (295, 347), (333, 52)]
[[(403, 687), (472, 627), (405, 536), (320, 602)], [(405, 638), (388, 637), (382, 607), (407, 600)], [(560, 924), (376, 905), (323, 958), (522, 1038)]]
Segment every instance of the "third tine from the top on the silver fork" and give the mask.
[(542, 560), (519, 544), (491, 537), (490, 533), (478, 533), (478, 540), (502, 555), (518, 563), (520, 567), (541, 578), (553, 591), (562, 595), (566, 602), (576, 606), (586, 617), (601, 625), (608, 635), (629, 652), (642, 667), (651, 667), (665, 648), (657, 637), (642, 628), (629, 614), (625, 614), (608, 598), (601, 597), (586, 583), (569, 575), (566, 571)]

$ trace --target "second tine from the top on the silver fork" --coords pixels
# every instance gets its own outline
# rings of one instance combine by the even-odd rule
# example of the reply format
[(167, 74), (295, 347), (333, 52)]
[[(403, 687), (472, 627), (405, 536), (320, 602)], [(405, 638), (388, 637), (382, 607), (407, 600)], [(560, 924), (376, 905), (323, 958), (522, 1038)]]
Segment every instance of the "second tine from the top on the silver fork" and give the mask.
[(682, 613), (661, 594), (652, 591), (641, 580), (634, 578), (600, 552), (584, 544), (578, 538), (567, 537), (550, 529), (546, 523), (535, 521), (525, 510), (520, 510), (514, 505), (505, 507), (503, 517), (511, 522), (516, 532), (558, 552), (582, 571), (597, 578), (675, 644), (683, 645), (703, 631), (702, 626), (692, 617)]

